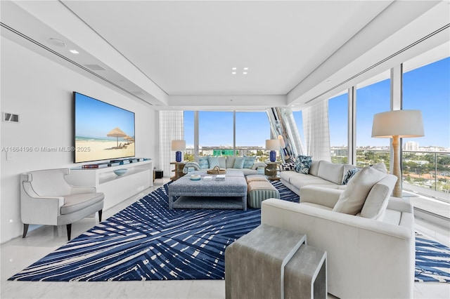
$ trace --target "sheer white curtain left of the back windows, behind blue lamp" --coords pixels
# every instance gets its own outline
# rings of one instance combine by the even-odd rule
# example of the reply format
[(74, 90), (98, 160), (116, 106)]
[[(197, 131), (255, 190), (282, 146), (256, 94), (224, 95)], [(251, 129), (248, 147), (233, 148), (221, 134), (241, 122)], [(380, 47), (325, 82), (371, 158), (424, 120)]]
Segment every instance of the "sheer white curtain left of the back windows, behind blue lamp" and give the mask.
[(172, 140), (184, 140), (184, 113), (160, 111), (160, 168), (166, 177), (171, 176), (170, 162), (175, 161), (175, 152), (170, 149)]

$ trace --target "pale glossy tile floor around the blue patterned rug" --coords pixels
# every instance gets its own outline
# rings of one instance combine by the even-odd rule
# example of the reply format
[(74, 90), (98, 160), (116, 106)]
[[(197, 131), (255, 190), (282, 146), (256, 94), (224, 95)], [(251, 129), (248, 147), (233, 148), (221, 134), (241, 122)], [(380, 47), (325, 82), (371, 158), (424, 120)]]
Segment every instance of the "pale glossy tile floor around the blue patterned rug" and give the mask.
[[(160, 187), (167, 179), (155, 180), (155, 186), (136, 194), (103, 213), (104, 219)], [(82, 234), (98, 222), (86, 218), (72, 225), (72, 238)], [(427, 222), (416, 221), (416, 229), (423, 234), (432, 232), (440, 241), (450, 244), (448, 230), (434, 230)], [(23, 270), (39, 258), (67, 242), (65, 226), (39, 227), (27, 237), (15, 238), (1, 244), (1, 298), (225, 298), (225, 281), (108, 281), (108, 282), (30, 282), (8, 281), (11, 275)], [(447, 245), (449, 245), (447, 244)], [(334, 298), (328, 295), (328, 298)], [(450, 284), (416, 283), (414, 298), (450, 298)]]

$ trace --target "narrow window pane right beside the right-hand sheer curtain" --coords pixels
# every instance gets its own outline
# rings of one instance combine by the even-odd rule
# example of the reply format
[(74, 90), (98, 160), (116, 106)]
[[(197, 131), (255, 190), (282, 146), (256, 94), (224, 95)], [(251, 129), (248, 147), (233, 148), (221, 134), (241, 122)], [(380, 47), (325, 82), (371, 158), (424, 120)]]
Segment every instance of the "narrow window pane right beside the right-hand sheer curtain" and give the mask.
[(331, 161), (347, 163), (348, 148), (348, 93), (328, 100), (328, 123), (330, 124)]

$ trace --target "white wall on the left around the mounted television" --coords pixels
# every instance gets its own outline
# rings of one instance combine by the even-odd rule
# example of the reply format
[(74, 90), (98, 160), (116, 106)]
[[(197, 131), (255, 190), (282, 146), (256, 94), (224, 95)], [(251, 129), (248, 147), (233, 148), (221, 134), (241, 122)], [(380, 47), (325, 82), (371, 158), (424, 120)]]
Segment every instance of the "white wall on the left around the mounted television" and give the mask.
[[(1, 243), (22, 234), (20, 173), (75, 166), (72, 152), (34, 150), (72, 146), (72, 91), (135, 112), (136, 157), (158, 157), (158, 112), (1, 37), (0, 108), (20, 114), (19, 124), (0, 124)], [(7, 159), (8, 147), (33, 150)]]

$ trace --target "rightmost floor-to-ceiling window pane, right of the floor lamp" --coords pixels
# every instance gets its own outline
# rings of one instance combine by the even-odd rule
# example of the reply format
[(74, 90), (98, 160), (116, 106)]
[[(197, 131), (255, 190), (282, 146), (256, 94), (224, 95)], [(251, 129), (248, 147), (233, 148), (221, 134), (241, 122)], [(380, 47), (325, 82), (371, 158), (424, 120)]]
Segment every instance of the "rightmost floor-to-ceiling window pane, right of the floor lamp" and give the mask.
[[(404, 68), (409, 68), (409, 62)], [(450, 58), (418, 67), (403, 75), (403, 109), (422, 112), (425, 136), (403, 138), (404, 189), (450, 192)]]

